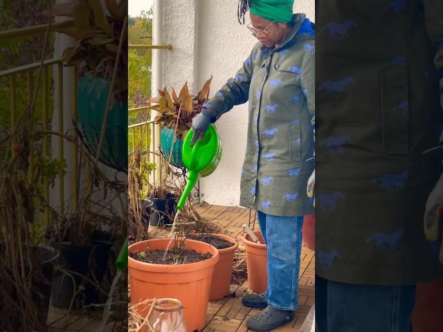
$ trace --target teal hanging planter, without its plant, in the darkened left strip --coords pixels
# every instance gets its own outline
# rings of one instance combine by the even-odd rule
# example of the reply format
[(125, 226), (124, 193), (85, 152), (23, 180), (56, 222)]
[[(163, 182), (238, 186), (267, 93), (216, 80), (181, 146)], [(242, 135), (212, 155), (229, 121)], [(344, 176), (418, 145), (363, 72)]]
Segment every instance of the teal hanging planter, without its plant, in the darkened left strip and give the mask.
[[(86, 73), (78, 84), (78, 122), (93, 156), (97, 156), (110, 86), (111, 81), (93, 77), (90, 73)], [(109, 167), (127, 172), (127, 98), (115, 100), (109, 109), (105, 140), (98, 159)]]

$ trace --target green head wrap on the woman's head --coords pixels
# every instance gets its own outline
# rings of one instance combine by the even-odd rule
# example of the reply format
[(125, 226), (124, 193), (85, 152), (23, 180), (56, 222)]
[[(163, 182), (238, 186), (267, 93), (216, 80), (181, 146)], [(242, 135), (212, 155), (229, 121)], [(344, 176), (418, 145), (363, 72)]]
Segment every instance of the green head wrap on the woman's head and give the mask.
[(251, 14), (271, 22), (289, 22), (292, 19), (293, 0), (252, 0)]

